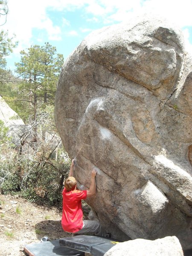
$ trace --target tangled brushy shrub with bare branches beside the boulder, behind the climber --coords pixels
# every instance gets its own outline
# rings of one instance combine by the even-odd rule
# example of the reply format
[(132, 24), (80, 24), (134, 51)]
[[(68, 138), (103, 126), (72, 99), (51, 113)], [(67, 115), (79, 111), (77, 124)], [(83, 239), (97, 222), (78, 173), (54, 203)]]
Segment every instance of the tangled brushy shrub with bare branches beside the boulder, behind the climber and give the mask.
[(32, 202), (61, 204), (70, 161), (53, 126), (52, 106), (48, 112), (39, 115), (34, 124), (38, 125), (38, 140), (33, 141), (34, 131), (29, 129), (21, 136), (20, 147), (9, 148), (5, 155), (0, 165), (0, 188), (4, 194), (20, 192)]

